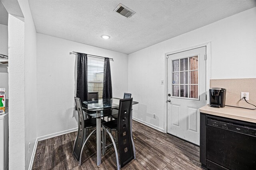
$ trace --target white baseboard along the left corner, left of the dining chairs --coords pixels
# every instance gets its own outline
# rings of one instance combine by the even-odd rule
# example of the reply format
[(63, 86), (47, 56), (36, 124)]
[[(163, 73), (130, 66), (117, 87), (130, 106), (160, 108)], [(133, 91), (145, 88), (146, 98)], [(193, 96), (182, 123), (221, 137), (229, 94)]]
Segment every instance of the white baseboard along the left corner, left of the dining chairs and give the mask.
[(35, 154), (36, 154), (36, 148), (37, 148), (38, 141), (42, 141), (42, 140), (49, 139), (49, 138), (52, 138), (52, 137), (64, 135), (66, 133), (71, 133), (71, 132), (74, 132), (74, 131), (77, 131), (77, 130), (78, 130), (78, 128), (76, 127), (76, 128), (73, 128), (73, 129), (68, 129), (66, 131), (52, 133), (50, 135), (45, 135), (45, 136), (36, 138), (36, 143), (34, 145), (34, 149), (33, 149), (33, 153), (32, 153), (32, 157), (31, 157), (31, 160), (30, 160), (30, 164), (29, 164), (28, 170), (32, 170), (32, 166), (33, 166), (33, 163), (34, 163), (34, 158), (35, 158)]

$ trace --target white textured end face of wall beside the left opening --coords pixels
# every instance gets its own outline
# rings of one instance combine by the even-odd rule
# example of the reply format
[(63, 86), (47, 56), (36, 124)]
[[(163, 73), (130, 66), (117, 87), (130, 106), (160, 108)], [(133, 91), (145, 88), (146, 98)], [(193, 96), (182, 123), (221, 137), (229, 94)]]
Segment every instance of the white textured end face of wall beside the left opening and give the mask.
[(24, 22), (9, 14), (9, 169), (25, 168)]

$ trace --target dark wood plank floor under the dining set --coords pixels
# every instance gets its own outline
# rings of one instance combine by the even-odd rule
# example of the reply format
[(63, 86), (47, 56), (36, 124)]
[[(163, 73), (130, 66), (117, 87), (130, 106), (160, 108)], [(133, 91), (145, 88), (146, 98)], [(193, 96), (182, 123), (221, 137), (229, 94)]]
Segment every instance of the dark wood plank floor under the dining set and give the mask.
[[(102, 156), (102, 164), (96, 165), (96, 135), (92, 135), (82, 155), (82, 165), (72, 154), (76, 133), (39, 141), (33, 170), (115, 170), (116, 156), (113, 147)], [(133, 121), (136, 160), (122, 170), (197, 170), (199, 147), (171, 135), (161, 133)], [(110, 140), (108, 140), (110, 141)]]

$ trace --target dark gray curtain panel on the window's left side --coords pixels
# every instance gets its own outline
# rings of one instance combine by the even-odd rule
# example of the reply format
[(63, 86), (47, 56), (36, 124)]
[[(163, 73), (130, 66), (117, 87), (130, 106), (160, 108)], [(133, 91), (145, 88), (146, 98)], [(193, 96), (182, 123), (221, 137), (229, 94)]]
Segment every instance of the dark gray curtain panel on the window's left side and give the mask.
[(87, 100), (87, 54), (77, 53), (76, 97)]

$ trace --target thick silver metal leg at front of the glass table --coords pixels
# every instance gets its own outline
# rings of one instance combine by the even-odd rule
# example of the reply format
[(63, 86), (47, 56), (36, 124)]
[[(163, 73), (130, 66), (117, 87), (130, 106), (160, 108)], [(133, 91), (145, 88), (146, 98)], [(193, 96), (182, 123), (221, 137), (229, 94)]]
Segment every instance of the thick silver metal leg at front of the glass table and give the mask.
[(96, 119), (96, 140), (97, 140), (97, 166), (101, 164), (101, 118), (100, 111), (97, 111)]

